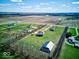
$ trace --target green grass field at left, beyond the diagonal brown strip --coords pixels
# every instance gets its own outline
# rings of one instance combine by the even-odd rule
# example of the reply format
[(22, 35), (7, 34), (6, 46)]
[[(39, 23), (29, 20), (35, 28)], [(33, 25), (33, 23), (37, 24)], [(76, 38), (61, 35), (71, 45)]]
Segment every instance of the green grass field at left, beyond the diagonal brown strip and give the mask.
[[(0, 25), (0, 42), (9, 39), (10, 37), (14, 36), (13, 34), (23, 30), (33, 30), (34, 28), (27, 28), (29, 25), (30, 24), (26, 23), (15, 23), (15, 25), (10, 30), (8, 30), (7, 24)], [(32, 26), (38, 28), (40, 25), (32, 24)]]

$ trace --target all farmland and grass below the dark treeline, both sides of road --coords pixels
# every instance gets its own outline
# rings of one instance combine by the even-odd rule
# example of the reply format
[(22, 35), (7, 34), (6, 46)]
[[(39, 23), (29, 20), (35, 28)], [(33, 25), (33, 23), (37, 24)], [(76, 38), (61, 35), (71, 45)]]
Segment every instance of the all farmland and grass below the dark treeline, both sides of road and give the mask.
[[(79, 33), (78, 20), (67, 20), (60, 16), (8, 17), (1, 18), (0, 21), (1, 59), (48, 59), (53, 55), (65, 26), (69, 26), (68, 32), (72, 36)], [(37, 36), (39, 31), (44, 32), (44, 35)], [(50, 54), (40, 50), (48, 41), (54, 43)], [(59, 59), (79, 59), (78, 52), (78, 49), (64, 41)]]

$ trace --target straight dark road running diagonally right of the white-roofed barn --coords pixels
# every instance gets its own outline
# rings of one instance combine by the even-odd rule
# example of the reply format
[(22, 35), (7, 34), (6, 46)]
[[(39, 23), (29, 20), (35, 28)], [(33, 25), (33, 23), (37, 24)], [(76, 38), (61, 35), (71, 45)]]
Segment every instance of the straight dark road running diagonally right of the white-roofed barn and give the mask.
[(65, 27), (64, 32), (63, 32), (62, 36), (60, 37), (60, 40), (59, 40), (59, 42), (55, 48), (55, 51), (53, 52), (53, 55), (50, 59), (58, 59), (60, 52), (61, 52), (61, 47), (62, 47), (63, 42), (65, 40), (67, 30), (68, 30), (68, 27)]

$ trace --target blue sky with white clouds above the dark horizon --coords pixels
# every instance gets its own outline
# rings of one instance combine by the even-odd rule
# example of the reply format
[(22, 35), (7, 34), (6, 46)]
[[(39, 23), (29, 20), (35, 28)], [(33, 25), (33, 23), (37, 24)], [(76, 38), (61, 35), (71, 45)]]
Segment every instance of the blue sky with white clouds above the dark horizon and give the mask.
[(79, 0), (0, 0), (0, 12), (79, 12)]

